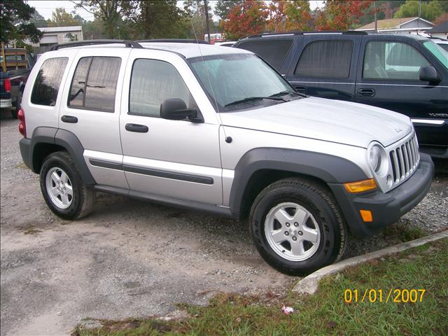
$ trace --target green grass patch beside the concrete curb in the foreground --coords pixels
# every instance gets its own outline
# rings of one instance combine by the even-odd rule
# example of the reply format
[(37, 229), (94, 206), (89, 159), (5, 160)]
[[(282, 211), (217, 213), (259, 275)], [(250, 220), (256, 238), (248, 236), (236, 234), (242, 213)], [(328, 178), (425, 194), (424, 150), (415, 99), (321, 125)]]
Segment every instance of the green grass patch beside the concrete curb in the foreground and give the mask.
[[(91, 330), (78, 326), (72, 335), (448, 335), (447, 274), (448, 239), (441, 239), (325, 277), (315, 295), (218, 293), (207, 307), (183, 305), (190, 317), (179, 321), (109, 321)], [(344, 302), (346, 289), (362, 295), (372, 288), (383, 290), (383, 302)], [(426, 292), (422, 302), (386, 303), (395, 288)], [(286, 316), (282, 304), (295, 312)]]

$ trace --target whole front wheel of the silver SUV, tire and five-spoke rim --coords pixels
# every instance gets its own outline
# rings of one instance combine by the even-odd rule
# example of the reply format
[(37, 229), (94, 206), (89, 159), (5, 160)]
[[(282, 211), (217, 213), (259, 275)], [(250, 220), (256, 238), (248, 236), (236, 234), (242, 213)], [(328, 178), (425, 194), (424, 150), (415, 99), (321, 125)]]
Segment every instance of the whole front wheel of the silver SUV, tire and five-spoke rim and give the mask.
[(250, 231), (262, 258), (290, 275), (329, 265), (346, 242), (332, 194), (307, 179), (283, 179), (262, 190), (251, 208)]

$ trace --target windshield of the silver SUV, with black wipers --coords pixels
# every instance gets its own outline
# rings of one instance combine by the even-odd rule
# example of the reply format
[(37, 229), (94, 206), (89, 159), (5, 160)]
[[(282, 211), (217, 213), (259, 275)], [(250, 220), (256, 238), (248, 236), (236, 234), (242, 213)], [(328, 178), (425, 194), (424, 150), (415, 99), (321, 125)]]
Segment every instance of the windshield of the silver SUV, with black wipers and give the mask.
[(260, 57), (227, 54), (188, 59), (219, 112), (256, 109), (300, 98), (293, 87)]

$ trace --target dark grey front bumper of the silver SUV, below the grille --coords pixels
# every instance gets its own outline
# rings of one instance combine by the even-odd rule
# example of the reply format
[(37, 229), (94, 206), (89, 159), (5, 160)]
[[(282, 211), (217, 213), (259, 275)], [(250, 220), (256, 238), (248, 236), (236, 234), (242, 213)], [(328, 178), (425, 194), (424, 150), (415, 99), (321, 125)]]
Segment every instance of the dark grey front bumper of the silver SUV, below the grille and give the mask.
[[(329, 183), (328, 186), (335, 194), (350, 232), (357, 236), (370, 236), (395, 223), (419, 204), (428, 193), (433, 176), (433, 161), (429, 155), (421, 153), (419, 167), (412, 177), (388, 193), (377, 189), (351, 194), (342, 184)], [(372, 222), (363, 222), (359, 213), (361, 209), (372, 212)]]

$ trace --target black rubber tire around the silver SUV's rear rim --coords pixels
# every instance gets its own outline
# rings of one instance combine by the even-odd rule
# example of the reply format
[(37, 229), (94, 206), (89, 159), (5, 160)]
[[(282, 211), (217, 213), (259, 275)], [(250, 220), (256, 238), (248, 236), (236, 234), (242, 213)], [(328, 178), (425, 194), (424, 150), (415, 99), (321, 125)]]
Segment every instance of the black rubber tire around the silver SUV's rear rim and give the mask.
[[(68, 197), (69, 205), (61, 204), (59, 206), (56, 202), (60, 198), (55, 200), (54, 196), (52, 200), (47, 184), (47, 175), (50, 171), (57, 173), (64, 172), (66, 176), (68, 176), (69, 184), (67, 184), (67, 186), (71, 186), (72, 190), (71, 197)], [(94, 190), (85, 186), (69, 153), (60, 151), (48, 155), (41, 167), (40, 182), (43, 198), (50, 210), (57, 216), (68, 220), (75, 220), (87, 216), (92, 211), (95, 200)], [(54, 182), (50, 181), (50, 183), (54, 185)], [(67, 194), (65, 193), (65, 195)], [(60, 197), (60, 195), (58, 197)], [(64, 206), (66, 208), (62, 208)]]

